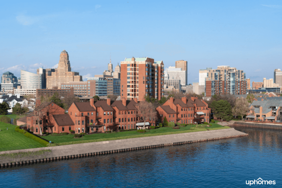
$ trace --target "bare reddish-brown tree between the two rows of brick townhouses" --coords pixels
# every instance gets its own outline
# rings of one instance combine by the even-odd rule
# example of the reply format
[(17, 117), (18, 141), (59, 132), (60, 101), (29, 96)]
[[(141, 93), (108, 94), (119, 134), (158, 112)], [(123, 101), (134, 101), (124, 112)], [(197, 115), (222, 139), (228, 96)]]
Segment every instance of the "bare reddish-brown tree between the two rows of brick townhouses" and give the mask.
[(145, 132), (145, 122), (148, 121), (154, 121), (157, 117), (157, 112), (154, 108), (154, 105), (147, 101), (141, 101), (136, 106), (138, 116), (141, 117), (144, 121), (144, 131)]

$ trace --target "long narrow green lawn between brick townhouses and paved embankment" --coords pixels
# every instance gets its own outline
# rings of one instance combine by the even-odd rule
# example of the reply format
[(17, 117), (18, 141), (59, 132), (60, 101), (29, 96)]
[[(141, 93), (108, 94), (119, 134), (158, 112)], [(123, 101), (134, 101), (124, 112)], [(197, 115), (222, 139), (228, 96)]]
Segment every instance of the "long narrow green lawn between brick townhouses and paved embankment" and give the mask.
[[(206, 127), (209, 130), (213, 129), (219, 129), (219, 128), (224, 128), (221, 125), (217, 123), (210, 123), (212, 124), (211, 127)], [(192, 127), (195, 127), (196, 125), (192, 125)], [(164, 134), (171, 134), (171, 133), (189, 133), (189, 132), (196, 132), (196, 131), (206, 131), (206, 128), (195, 128), (195, 130), (190, 130), (191, 125), (187, 125), (186, 127), (180, 127), (180, 129), (173, 129), (171, 127), (161, 127), (157, 129), (150, 129), (149, 132), (144, 133), (144, 136), (155, 136), (156, 135), (164, 135)], [(226, 127), (229, 128), (229, 127)], [(154, 135), (152, 135), (154, 134)], [(137, 137), (143, 137), (143, 133), (137, 133), (136, 131), (125, 131), (125, 132), (114, 132), (114, 133), (96, 133), (96, 134), (90, 134), (90, 135), (85, 135), (83, 136), (83, 140), (106, 140), (106, 139), (123, 139), (122, 137), (129, 137), (129, 138), (137, 138)], [(52, 143), (65, 143), (65, 142), (75, 142), (75, 141), (81, 141), (81, 138), (73, 138), (72, 134), (68, 135), (63, 135), (63, 136), (44, 136), (43, 137), (46, 140), (51, 141)]]

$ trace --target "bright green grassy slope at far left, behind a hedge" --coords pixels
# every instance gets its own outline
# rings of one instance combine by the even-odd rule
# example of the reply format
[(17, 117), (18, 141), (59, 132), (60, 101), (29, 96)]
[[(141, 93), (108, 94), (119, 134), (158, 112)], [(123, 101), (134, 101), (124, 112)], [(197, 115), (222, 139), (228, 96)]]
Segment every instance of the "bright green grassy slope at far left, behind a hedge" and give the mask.
[(44, 147), (23, 134), (17, 133), (15, 127), (16, 125), (0, 122), (0, 151)]

